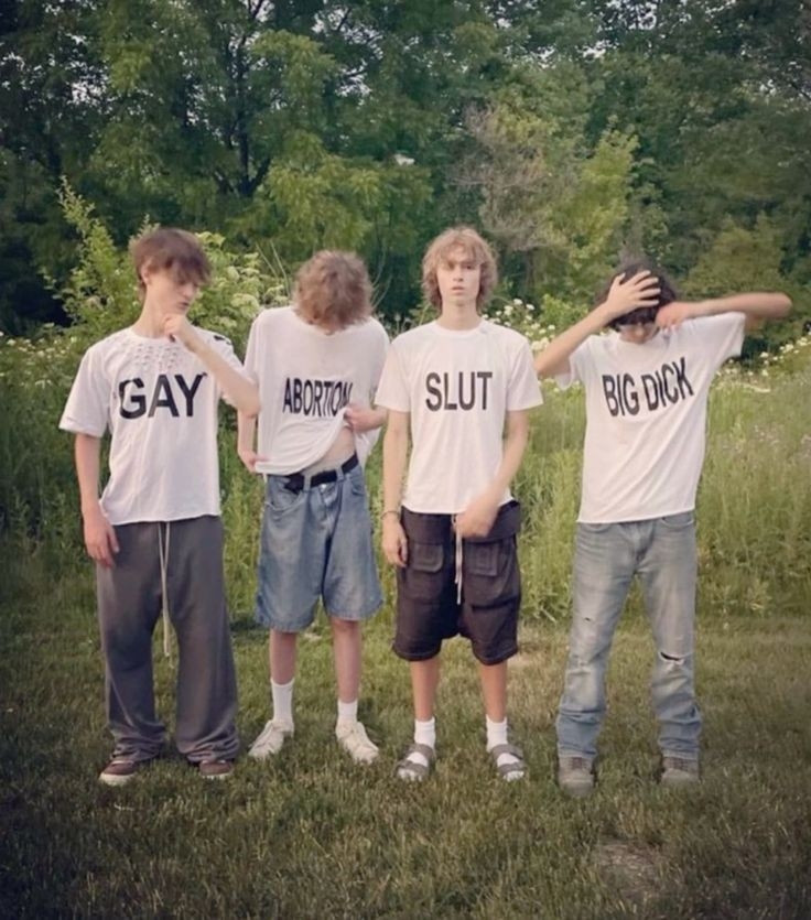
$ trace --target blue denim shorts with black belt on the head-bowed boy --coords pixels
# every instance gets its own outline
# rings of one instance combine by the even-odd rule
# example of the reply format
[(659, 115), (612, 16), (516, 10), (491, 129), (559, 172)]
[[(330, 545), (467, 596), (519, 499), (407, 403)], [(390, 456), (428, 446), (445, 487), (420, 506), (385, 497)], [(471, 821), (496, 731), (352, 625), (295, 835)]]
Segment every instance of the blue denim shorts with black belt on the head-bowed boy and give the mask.
[(334, 475), (317, 485), (300, 474), (267, 477), (256, 610), (264, 626), (306, 629), (318, 598), (347, 620), (368, 619), (382, 604), (364, 472)]

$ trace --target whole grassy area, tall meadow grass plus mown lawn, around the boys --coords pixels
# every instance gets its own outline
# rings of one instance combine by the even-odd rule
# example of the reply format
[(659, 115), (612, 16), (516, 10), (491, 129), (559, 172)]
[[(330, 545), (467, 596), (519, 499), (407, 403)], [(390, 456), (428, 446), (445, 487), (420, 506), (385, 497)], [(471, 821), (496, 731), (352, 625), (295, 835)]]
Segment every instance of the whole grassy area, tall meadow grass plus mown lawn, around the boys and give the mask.
[[(501, 782), (485, 755), (461, 641), (445, 654), (436, 770), (419, 787), (394, 779), (411, 712), (387, 607), (366, 634), (360, 715), (381, 747), (371, 768), (334, 742), (322, 623), (302, 639), (296, 736), (278, 760), (241, 758), (230, 781), (206, 783), (170, 756), (110, 790), (96, 779), (110, 739), (69, 441), (55, 427), (62, 397), (40, 407), (39, 390), (0, 390), (0, 917), (811, 917), (811, 362), (760, 374), (723, 377), (710, 405), (698, 515), (703, 782), (686, 793), (656, 783), (653, 649), (635, 597), (609, 671), (598, 788), (581, 802), (554, 784), (553, 718), (582, 394), (549, 394), (516, 484), (525, 609), (510, 719), (527, 781)], [(250, 743), (269, 714), (267, 638), (250, 620), (260, 491), (224, 435)], [(378, 459), (368, 480), (379, 511)], [(388, 571), (383, 583), (390, 600)], [(155, 652), (171, 726), (160, 631)]]

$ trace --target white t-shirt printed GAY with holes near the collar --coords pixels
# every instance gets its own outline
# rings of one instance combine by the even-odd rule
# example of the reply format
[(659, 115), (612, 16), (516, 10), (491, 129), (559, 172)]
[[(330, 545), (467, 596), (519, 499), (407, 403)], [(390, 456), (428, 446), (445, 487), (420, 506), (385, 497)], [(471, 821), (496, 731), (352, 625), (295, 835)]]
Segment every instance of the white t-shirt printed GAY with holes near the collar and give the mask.
[[(240, 372), (230, 342), (197, 329)], [(220, 388), (179, 342), (131, 328), (90, 346), (60, 427), (110, 431), (110, 478), (101, 507), (112, 524), (219, 515), (217, 404)]]

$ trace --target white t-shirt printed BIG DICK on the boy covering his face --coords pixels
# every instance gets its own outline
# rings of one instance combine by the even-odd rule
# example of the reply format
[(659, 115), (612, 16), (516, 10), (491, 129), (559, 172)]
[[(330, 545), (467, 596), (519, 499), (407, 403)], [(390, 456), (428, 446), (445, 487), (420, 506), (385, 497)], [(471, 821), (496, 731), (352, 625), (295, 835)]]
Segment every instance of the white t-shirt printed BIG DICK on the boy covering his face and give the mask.
[(569, 359), (565, 388), (586, 393), (584, 523), (691, 511), (704, 463), (706, 402), (721, 365), (740, 354), (743, 313), (688, 320), (642, 344), (617, 333), (587, 338)]

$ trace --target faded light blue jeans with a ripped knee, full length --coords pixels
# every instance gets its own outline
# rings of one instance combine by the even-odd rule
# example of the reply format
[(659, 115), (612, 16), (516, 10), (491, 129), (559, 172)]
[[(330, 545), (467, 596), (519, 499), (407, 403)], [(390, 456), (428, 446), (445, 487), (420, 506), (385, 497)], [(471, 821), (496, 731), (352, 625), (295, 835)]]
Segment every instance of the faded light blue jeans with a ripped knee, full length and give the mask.
[(692, 511), (647, 521), (578, 523), (574, 614), (558, 754), (593, 760), (605, 714), (605, 669), (631, 581), (639, 576), (653, 630), (651, 697), (662, 755), (699, 757), (693, 686), (696, 549)]

